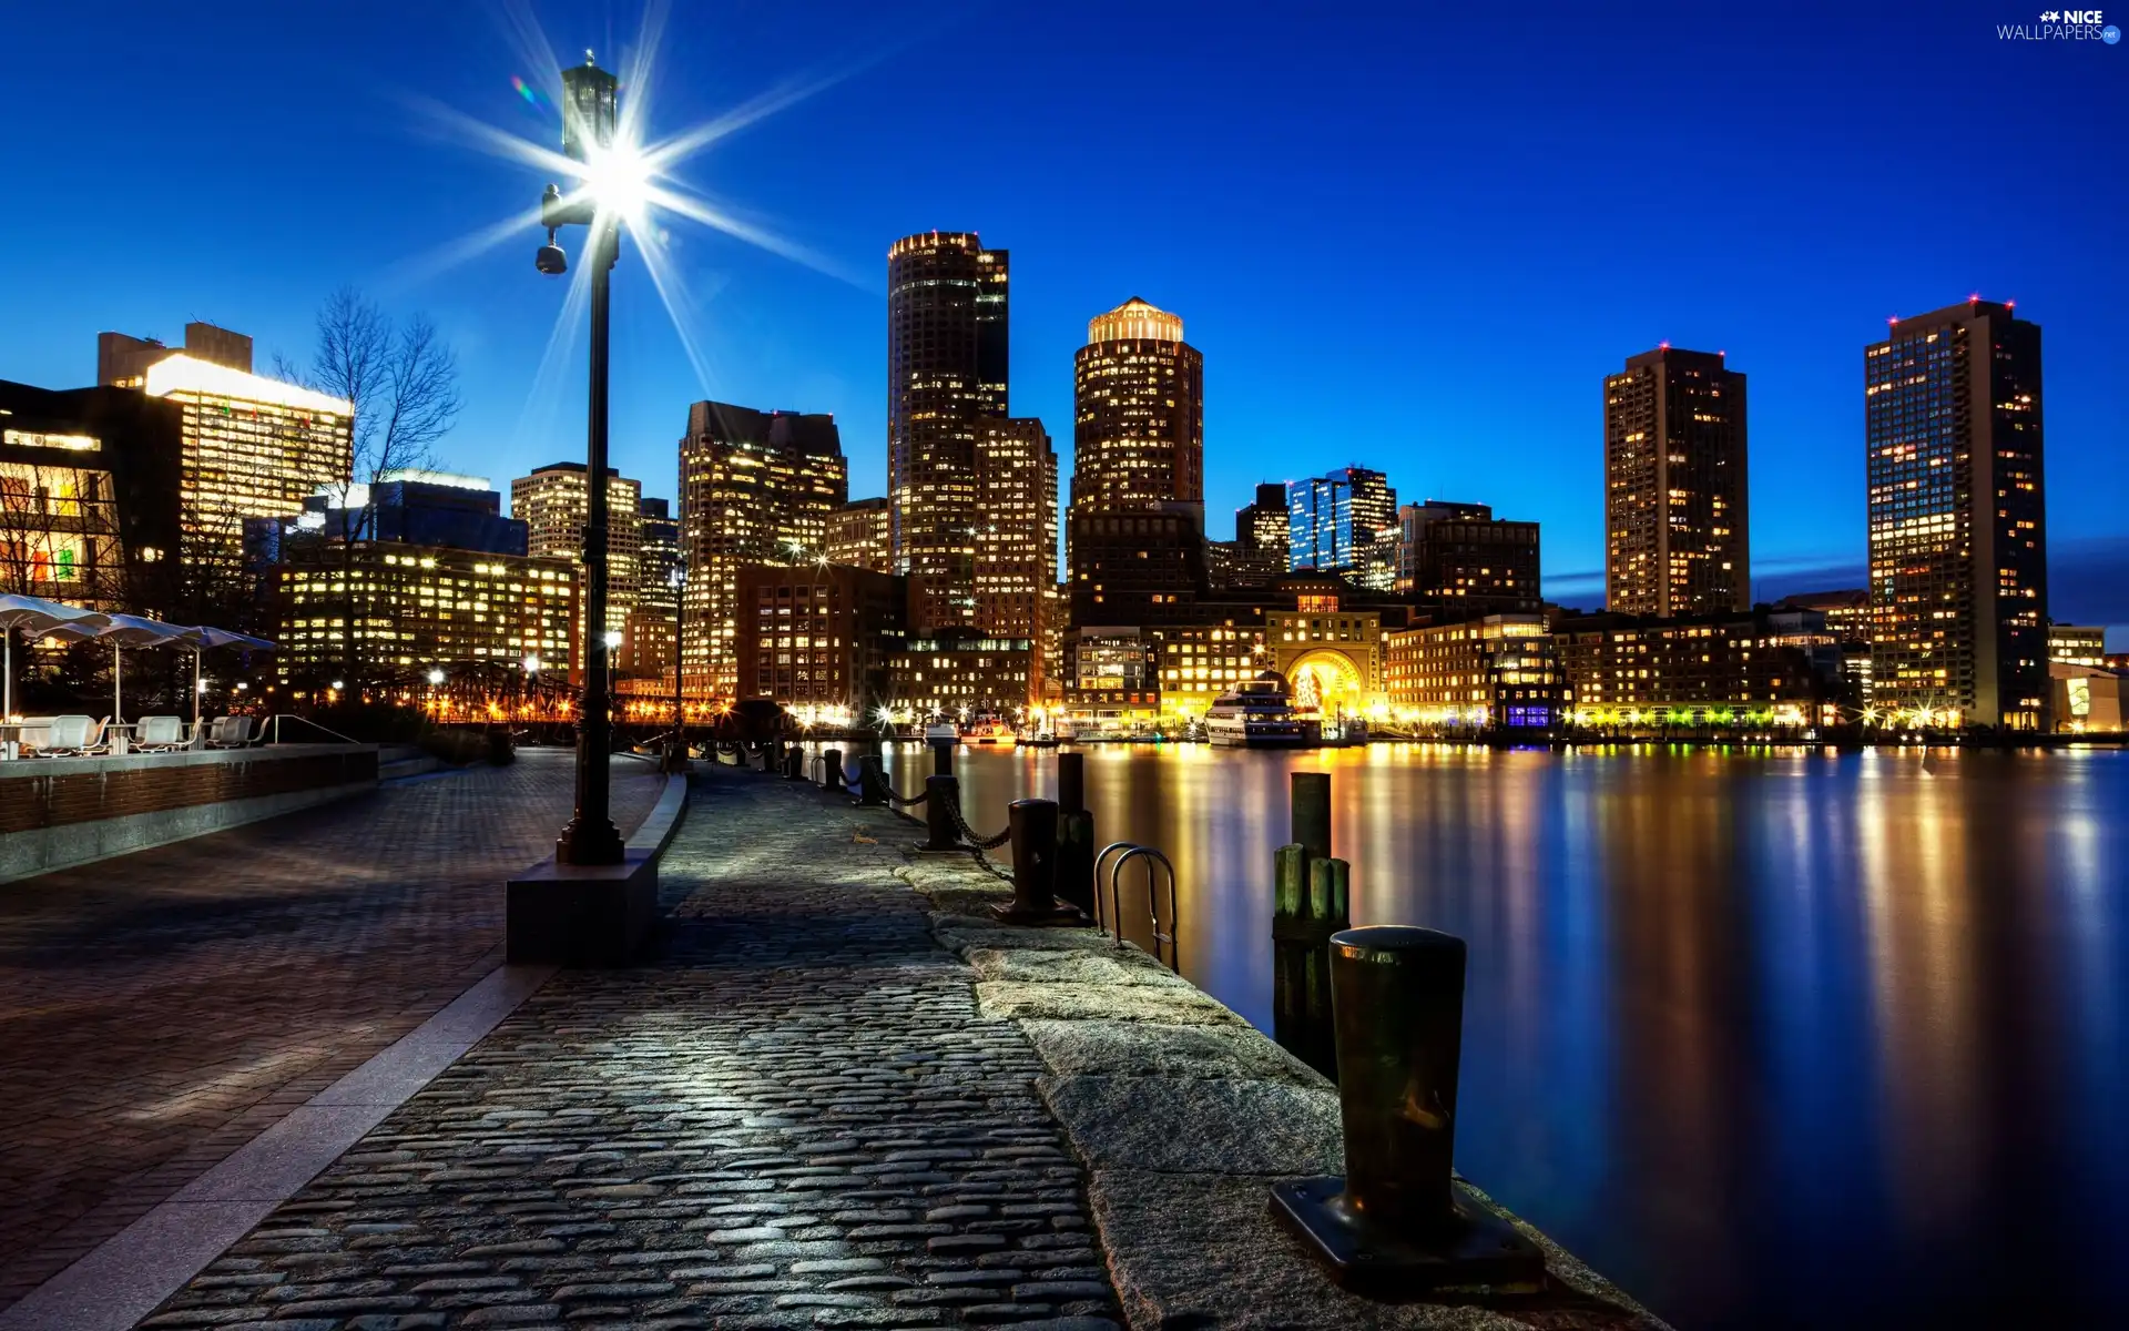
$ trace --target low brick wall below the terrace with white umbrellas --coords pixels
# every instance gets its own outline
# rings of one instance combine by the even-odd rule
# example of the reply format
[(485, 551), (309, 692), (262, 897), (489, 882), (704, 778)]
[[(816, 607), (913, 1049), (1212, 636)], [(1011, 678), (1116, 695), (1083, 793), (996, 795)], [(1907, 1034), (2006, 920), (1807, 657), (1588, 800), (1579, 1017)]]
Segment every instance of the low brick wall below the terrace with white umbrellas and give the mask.
[(377, 788), (377, 747), (0, 762), (0, 882), (147, 850)]

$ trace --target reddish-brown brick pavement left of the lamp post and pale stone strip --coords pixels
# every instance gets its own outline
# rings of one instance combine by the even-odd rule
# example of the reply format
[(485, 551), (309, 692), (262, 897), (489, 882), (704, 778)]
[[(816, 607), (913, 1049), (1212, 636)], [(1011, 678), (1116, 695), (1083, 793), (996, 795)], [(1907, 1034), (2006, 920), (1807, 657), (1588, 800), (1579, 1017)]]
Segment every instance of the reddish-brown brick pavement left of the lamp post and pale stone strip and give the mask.
[[(571, 784), (528, 750), (0, 884), (0, 1308), (490, 971)], [(660, 782), (613, 790), (626, 831)]]

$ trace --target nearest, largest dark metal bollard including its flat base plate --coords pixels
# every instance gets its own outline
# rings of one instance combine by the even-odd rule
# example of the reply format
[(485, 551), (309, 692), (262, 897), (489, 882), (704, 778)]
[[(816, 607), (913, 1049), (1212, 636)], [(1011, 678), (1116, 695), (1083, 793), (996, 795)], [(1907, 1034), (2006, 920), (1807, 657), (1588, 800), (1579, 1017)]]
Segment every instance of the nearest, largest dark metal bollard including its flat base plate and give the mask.
[(1546, 1256), (1450, 1173), (1463, 939), (1407, 924), (1331, 937), (1346, 1178), (1271, 1186), (1271, 1214), (1346, 1286), (1535, 1293)]

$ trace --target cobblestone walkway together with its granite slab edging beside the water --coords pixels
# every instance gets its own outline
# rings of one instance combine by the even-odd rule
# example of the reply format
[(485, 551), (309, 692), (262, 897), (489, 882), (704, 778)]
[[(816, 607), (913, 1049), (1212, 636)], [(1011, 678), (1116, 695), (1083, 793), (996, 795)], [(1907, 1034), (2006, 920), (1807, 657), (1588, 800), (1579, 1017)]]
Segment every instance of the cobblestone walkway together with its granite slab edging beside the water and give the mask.
[(654, 963), (534, 975), (141, 1325), (1654, 1325), (1558, 1250), (1505, 1312), (1331, 1288), (1265, 1188), (1339, 1167), (1335, 1092), (1135, 950), (996, 926), (915, 833), (700, 771)]

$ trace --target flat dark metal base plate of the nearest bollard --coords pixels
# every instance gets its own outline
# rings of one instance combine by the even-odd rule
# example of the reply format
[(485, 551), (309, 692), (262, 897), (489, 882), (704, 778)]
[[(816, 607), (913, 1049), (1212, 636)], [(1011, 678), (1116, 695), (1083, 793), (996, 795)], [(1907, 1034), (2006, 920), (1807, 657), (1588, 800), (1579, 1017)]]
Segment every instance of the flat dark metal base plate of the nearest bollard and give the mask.
[(1307, 1244), (1331, 1280), (1356, 1295), (1531, 1295), (1546, 1288), (1546, 1254), (1456, 1188), (1456, 1218), (1439, 1233), (1409, 1231), (1360, 1214), (1343, 1178), (1271, 1184), (1271, 1218)]

